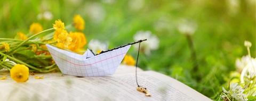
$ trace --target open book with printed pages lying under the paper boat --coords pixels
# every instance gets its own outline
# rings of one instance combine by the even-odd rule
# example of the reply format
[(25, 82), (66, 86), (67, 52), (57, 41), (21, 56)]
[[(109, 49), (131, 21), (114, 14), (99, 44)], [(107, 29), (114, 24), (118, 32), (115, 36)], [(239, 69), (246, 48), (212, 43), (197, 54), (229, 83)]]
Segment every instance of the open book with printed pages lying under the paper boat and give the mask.
[(211, 100), (169, 76), (139, 70), (139, 85), (147, 87), (152, 95), (147, 97), (136, 89), (135, 68), (124, 65), (118, 68), (123, 69), (117, 69), (121, 74), (105, 77), (70, 77), (54, 73), (59, 77), (47, 79), (45, 75), (45, 79), (38, 80), (30, 76), (31, 79), (23, 83), (5, 82), (0, 84), (0, 100)]

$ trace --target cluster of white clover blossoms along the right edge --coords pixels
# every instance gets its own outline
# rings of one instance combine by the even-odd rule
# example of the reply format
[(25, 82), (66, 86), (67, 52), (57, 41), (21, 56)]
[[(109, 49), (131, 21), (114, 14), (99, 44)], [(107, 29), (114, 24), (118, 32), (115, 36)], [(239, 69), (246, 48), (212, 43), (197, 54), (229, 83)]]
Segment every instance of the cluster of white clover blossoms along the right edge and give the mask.
[(240, 79), (234, 82), (231, 80), (231, 85), (228, 91), (222, 87), (223, 93), (221, 94), (223, 100), (250, 100), (249, 97), (256, 96), (256, 58), (252, 58), (250, 54), (250, 47), (252, 43), (249, 41), (244, 42), (244, 46), (247, 48), (248, 55), (243, 56), (241, 59), (236, 59), (236, 69), (231, 75), (232, 78), (239, 75)]

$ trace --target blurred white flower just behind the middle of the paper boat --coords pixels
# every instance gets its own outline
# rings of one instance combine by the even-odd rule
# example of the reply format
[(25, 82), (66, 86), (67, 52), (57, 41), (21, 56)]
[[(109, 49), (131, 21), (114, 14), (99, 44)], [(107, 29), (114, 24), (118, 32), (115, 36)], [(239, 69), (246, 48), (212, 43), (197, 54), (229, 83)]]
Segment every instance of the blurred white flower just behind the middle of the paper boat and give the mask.
[(88, 48), (91, 49), (94, 53), (99, 53), (101, 51), (106, 51), (108, 49), (108, 44), (100, 42), (97, 39), (92, 39), (88, 43)]

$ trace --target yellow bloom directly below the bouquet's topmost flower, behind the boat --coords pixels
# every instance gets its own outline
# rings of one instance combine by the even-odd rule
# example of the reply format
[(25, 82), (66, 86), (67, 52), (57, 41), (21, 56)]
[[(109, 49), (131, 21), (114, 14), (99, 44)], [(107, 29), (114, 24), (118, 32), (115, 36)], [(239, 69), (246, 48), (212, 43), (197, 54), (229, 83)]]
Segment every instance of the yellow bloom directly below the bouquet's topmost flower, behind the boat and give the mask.
[(74, 52), (78, 52), (87, 44), (84, 33), (81, 32), (69, 32), (69, 36), (72, 42), (69, 44), (68, 49)]

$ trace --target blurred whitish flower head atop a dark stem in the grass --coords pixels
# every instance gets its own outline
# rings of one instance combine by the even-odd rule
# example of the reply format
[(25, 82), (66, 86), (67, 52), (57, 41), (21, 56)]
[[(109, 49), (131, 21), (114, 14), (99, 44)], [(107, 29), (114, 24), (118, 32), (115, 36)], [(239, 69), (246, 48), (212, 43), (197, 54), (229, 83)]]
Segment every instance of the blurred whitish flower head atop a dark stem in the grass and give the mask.
[(182, 34), (193, 35), (197, 29), (197, 24), (193, 21), (182, 19), (179, 23), (178, 30)]

